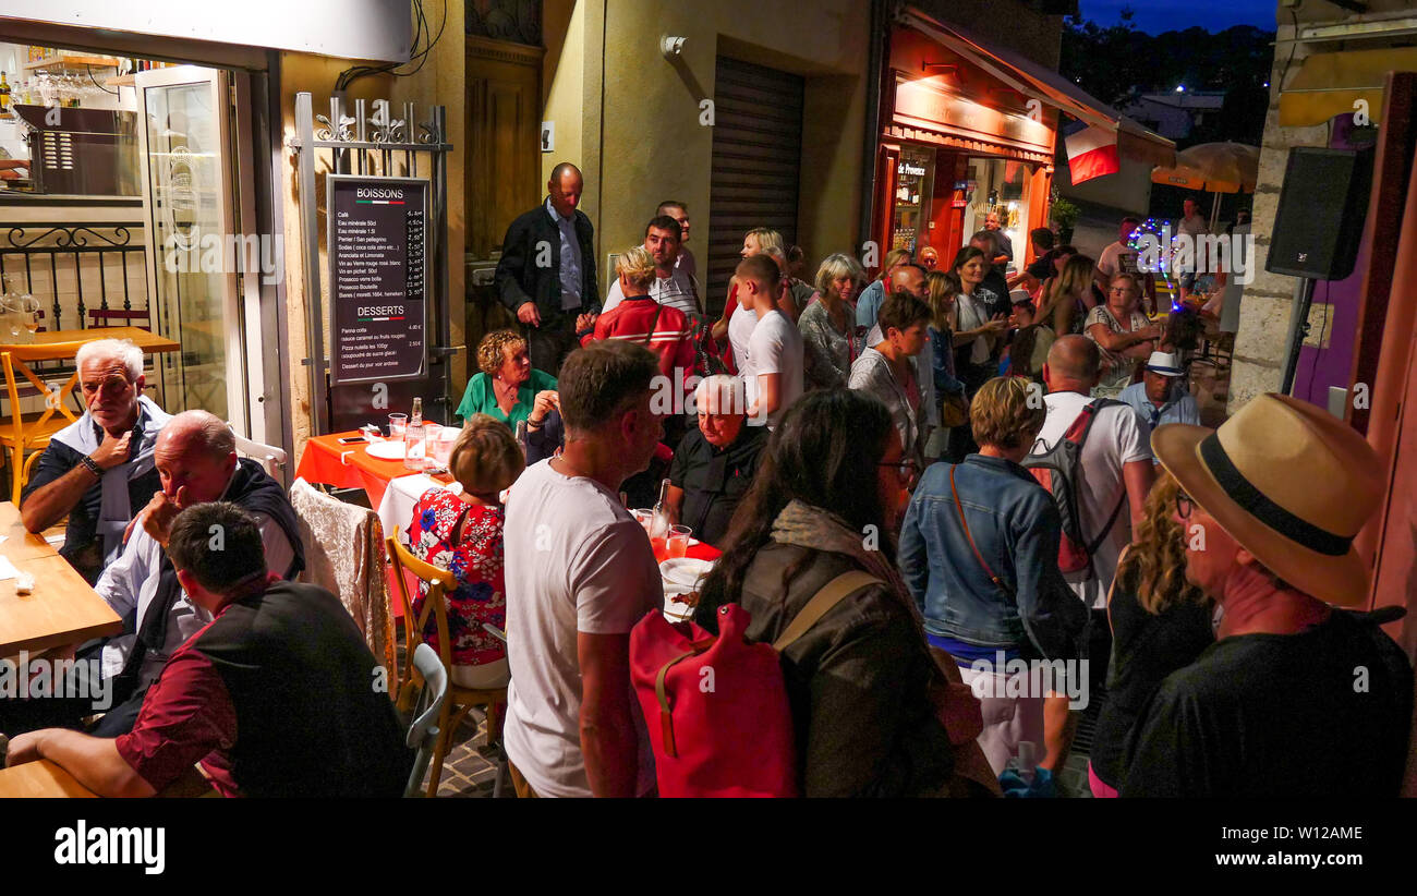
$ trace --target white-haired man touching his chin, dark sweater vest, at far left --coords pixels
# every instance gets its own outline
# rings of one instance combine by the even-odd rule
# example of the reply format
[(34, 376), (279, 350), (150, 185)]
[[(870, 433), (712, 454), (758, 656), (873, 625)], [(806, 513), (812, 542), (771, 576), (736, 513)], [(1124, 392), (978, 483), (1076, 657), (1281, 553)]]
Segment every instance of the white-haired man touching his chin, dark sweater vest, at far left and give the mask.
[(20, 519), (44, 532), (67, 515), (60, 554), (92, 584), (118, 559), (133, 513), (160, 488), (153, 447), (169, 415), (143, 394), (143, 350), (132, 342), (89, 342), (75, 364), (84, 415), (50, 438), (20, 495)]

